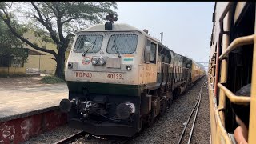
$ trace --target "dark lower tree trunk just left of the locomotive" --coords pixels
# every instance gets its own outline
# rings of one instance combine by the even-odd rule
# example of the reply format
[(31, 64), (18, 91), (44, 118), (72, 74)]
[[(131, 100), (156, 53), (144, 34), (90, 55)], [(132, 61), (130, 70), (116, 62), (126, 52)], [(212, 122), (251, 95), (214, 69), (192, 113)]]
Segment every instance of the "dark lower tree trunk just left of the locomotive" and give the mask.
[(65, 79), (64, 68), (65, 68), (65, 52), (62, 48), (58, 50), (58, 57), (56, 58), (57, 67), (55, 70), (55, 76), (58, 78)]

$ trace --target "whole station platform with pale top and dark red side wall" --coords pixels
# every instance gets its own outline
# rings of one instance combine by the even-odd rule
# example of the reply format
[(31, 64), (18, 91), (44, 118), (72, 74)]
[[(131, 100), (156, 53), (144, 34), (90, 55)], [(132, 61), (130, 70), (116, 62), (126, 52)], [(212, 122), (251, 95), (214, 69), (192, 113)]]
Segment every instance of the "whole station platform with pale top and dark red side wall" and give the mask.
[(0, 78), (0, 144), (21, 143), (66, 123), (58, 108), (68, 98), (66, 83), (6, 86), (5, 80)]

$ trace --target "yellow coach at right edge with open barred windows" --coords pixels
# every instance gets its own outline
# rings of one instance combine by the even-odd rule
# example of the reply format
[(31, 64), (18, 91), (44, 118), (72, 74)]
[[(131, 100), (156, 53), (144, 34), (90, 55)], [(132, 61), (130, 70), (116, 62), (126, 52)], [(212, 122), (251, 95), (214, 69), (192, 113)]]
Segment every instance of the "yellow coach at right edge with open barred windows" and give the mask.
[(215, 2), (212, 20), (211, 143), (256, 143), (255, 2)]

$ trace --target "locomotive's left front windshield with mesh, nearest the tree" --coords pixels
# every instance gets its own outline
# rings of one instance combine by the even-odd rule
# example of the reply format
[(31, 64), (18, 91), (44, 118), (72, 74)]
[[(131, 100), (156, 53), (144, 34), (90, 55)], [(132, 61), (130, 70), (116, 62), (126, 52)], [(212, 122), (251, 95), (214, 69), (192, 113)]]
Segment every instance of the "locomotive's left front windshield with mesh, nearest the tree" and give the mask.
[(97, 53), (102, 47), (103, 36), (96, 34), (80, 35), (74, 46), (74, 52)]

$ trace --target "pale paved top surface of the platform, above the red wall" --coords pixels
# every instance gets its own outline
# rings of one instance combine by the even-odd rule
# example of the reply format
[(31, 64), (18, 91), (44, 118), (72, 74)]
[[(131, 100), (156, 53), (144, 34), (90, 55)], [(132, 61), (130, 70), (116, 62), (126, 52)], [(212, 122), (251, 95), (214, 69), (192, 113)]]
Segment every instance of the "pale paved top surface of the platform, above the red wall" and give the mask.
[(0, 78), (0, 122), (57, 109), (59, 102), (68, 98), (66, 83), (31, 84), (26, 80), (13, 83), (6, 86), (10, 82)]

